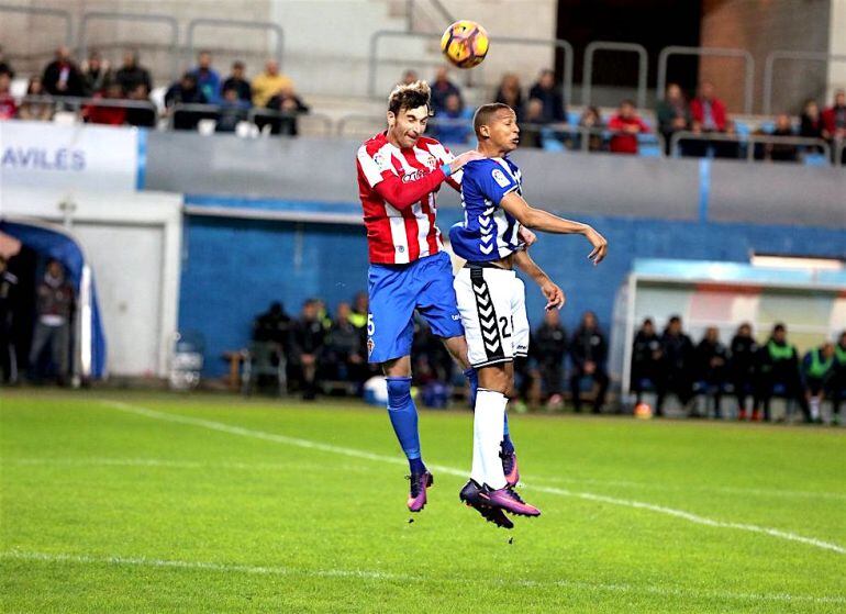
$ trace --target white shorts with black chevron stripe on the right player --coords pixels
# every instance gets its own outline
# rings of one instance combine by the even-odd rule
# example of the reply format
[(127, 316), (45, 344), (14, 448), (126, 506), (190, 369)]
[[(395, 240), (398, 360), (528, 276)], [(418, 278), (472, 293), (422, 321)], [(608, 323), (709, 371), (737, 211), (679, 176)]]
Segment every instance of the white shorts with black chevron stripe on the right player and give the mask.
[(488, 367), (526, 356), (526, 289), (513, 270), (464, 267), (455, 277), (455, 294), (470, 365)]

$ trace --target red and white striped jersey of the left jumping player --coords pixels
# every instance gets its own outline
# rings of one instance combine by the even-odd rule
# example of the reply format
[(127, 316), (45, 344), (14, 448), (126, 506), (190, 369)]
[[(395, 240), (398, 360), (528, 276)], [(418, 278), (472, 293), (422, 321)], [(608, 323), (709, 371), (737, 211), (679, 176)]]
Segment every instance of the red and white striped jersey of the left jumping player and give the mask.
[[(358, 193), (364, 208), (370, 261), (402, 265), (444, 247), (435, 225), (435, 194), (455, 156), (434, 138), (421, 136), (400, 149), (377, 134), (358, 149)], [(460, 171), (447, 179), (460, 188)]]

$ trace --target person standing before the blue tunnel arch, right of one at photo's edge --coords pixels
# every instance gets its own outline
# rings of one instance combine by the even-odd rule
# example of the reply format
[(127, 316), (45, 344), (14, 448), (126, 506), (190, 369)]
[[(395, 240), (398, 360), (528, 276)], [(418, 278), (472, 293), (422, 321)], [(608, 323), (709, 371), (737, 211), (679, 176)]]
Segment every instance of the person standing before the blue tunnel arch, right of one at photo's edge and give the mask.
[(30, 348), (30, 375), (41, 380), (41, 358), (45, 349), (51, 353), (56, 380), (63, 386), (68, 376), (70, 360), (70, 323), (73, 322), (75, 293), (65, 279), (65, 268), (57, 260), (47, 263), (47, 270), (37, 289), (35, 332)]

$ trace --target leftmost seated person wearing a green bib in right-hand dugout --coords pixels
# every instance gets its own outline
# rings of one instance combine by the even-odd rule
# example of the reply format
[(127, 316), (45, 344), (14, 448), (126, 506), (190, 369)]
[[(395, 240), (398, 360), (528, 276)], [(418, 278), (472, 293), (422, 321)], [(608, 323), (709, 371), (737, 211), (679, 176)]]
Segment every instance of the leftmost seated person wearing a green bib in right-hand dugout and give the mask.
[(769, 341), (758, 350), (758, 393), (756, 410), (752, 416), (755, 421), (760, 420), (758, 408), (762, 408), (764, 420), (769, 422), (770, 399), (779, 393), (788, 401), (799, 403), (805, 422), (811, 422), (811, 412), (800, 379), (799, 353), (788, 343), (787, 333), (783, 324), (776, 324)]

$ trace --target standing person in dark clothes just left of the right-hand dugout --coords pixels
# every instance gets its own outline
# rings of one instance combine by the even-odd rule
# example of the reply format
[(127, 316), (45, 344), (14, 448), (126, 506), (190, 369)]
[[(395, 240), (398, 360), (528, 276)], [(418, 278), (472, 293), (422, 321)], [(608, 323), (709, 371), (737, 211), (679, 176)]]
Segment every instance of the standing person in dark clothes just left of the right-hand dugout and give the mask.
[(570, 393), (577, 412), (581, 411), (580, 383), (583, 377), (592, 378), (599, 386), (593, 401), (593, 413), (598, 414), (605, 403), (609, 383), (605, 371), (606, 358), (608, 344), (602, 331), (599, 330), (597, 315), (592, 311), (586, 311), (581, 316), (581, 324), (570, 339), (570, 359), (572, 360)]

